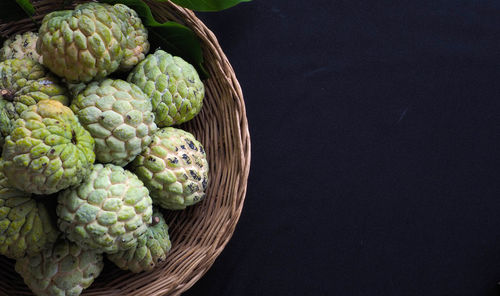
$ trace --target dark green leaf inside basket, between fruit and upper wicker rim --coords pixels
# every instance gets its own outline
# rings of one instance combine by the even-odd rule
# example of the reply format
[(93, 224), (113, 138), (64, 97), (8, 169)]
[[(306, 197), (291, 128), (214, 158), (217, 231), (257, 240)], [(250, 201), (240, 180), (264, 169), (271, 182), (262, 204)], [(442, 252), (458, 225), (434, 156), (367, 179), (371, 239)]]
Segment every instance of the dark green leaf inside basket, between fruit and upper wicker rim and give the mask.
[(148, 39), (152, 48), (160, 47), (172, 55), (182, 57), (196, 68), (202, 79), (209, 76), (203, 67), (200, 40), (191, 29), (175, 22), (158, 22), (153, 17), (151, 8), (142, 0), (102, 0), (101, 2), (121, 3), (135, 10), (148, 29)]

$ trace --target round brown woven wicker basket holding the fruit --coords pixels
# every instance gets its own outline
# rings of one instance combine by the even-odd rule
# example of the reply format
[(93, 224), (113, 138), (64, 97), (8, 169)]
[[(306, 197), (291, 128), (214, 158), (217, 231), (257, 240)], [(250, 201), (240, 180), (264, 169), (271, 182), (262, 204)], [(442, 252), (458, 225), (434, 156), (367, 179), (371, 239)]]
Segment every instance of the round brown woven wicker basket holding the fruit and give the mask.
[[(32, 1), (35, 21), (60, 9), (62, 0)], [(86, 2), (86, 1), (80, 1)], [(250, 136), (240, 85), (214, 34), (190, 10), (171, 2), (145, 1), (159, 21), (190, 27), (201, 39), (206, 97), (200, 114), (181, 128), (192, 132), (206, 148), (210, 164), (207, 196), (184, 211), (165, 211), (172, 250), (152, 272), (134, 274), (107, 261), (103, 272), (83, 295), (179, 295), (210, 268), (231, 238), (245, 199), (250, 168)], [(30, 19), (0, 22), (0, 34), (37, 30)], [(14, 272), (14, 261), (0, 256), (0, 295), (32, 295)]]

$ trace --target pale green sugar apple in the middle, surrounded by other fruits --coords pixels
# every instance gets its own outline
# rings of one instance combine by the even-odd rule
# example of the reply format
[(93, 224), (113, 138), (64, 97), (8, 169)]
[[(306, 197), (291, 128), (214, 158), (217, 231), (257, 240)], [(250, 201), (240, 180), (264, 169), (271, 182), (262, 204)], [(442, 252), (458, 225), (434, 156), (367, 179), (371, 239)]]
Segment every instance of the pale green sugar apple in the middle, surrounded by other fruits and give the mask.
[(90, 83), (71, 109), (95, 139), (101, 163), (125, 166), (151, 143), (157, 129), (151, 101), (123, 80)]

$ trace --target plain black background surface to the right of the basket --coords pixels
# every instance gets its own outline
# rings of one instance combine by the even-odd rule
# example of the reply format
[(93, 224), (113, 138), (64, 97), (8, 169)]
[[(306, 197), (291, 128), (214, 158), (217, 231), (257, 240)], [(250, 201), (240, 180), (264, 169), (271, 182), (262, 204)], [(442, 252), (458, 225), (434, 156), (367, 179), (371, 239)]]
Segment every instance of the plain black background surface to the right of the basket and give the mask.
[(198, 13), (242, 85), (244, 211), (196, 295), (497, 295), (500, 2)]

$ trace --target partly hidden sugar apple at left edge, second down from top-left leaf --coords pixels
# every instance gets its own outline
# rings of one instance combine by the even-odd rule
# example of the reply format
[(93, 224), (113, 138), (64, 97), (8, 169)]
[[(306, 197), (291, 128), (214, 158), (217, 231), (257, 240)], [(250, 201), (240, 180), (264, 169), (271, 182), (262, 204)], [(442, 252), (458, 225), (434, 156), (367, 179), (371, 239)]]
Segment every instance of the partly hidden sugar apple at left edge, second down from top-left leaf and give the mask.
[(14, 96), (30, 82), (47, 75), (47, 70), (31, 59), (5, 60), (0, 63), (0, 95)]

